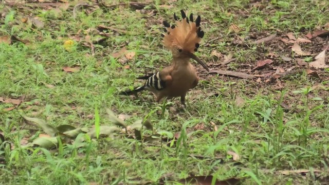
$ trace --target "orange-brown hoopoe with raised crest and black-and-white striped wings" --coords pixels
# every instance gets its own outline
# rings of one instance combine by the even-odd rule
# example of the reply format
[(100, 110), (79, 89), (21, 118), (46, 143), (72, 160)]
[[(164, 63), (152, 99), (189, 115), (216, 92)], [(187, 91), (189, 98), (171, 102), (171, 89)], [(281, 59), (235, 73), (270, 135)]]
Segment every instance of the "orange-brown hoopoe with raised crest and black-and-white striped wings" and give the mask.
[(200, 16), (198, 15), (193, 21), (192, 13), (189, 19), (183, 10), (180, 12), (181, 21), (178, 21), (174, 13), (175, 25), (163, 21), (165, 33), (162, 33), (162, 43), (173, 54), (172, 64), (153, 75), (138, 78), (147, 81), (134, 90), (122, 91), (120, 94), (132, 95), (142, 90), (150, 90), (155, 95), (156, 102), (164, 97), (180, 97), (181, 103), (185, 105), (186, 93), (198, 83), (198, 77), (190, 59), (201, 64), (207, 71), (209, 69), (193, 54), (197, 51), (199, 42), (204, 36), (204, 31), (200, 28)]

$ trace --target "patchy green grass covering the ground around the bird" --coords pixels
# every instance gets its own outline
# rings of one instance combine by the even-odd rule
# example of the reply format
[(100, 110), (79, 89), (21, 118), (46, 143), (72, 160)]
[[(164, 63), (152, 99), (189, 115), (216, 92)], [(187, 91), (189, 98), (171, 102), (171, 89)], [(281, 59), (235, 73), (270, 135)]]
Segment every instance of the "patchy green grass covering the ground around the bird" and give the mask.
[[(105, 3), (119, 4), (117, 1)], [(206, 33), (202, 44), (206, 45), (197, 53), (200, 58), (214, 65), (220, 60), (211, 55), (213, 50), (226, 55), (232, 52), (237, 60), (227, 67), (247, 71), (246, 66), (253, 68), (258, 60), (267, 59), (269, 52), (287, 54), (294, 60), (297, 57), (287, 46), (280, 49), (278, 46), (282, 45), (277, 41), (263, 46), (232, 44), (237, 36), (229, 35), (231, 24), (241, 28), (238, 35), (245, 39), (249, 34), (266, 36), (274, 32), (279, 32), (279, 36), (287, 32), (302, 36), (329, 22), (328, 11), (321, 11), (326, 6), (323, 3), (271, 1), (252, 6), (249, 1), (239, 0), (220, 4), (211, 0), (152, 1), (137, 11), (134, 6), (78, 7), (76, 17), (72, 16), (74, 2), (66, 11), (1, 4), (6, 15), (0, 21), (1, 35), (16, 35), (29, 41), (28, 44), (0, 43), (0, 97), (23, 100), (11, 111), (6, 108), (12, 104), (0, 103), (0, 130), (14, 146), (10, 149), (4, 145), (1, 182), (143, 184), (158, 183), (159, 179), (166, 181), (162, 176), (173, 173), (167, 183), (189, 176), (212, 175), (219, 180), (241, 178), (243, 184), (324, 184), (328, 179), (329, 160), (326, 70), (318, 70), (321, 81), (302, 72), (269, 84), (263, 83), (264, 80), (258, 83), (199, 72), (200, 82), (188, 94), (189, 112), (180, 108), (178, 99), (167, 101), (163, 109), (148, 93), (139, 98), (117, 95), (127, 86), (141, 84), (136, 77), (170, 64), (171, 53), (161, 45), (159, 28), (162, 20), (172, 22), (172, 14), (178, 14), (180, 9), (202, 17)], [(152, 11), (156, 14), (150, 13)], [(23, 23), (21, 18), (27, 15), (38, 16), (44, 26), (36, 28), (30, 22)], [(100, 38), (95, 31), (98, 25), (121, 31), (108, 30), (106, 41), (94, 44), (93, 53), (84, 44), (86, 35), (93, 41)], [(207, 43), (217, 37), (221, 39)], [(63, 46), (68, 39), (74, 40), (69, 51)], [(316, 52), (326, 44), (325, 39), (312, 41), (305, 47)], [(113, 57), (112, 53), (119, 52), (123, 46), (136, 52), (133, 59)], [(291, 61), (283, 62), (280, 57), (273, 60), (273, 66), (296, 66)], [(63, 67), (80, 70), (68, 73)], [(226, 70), (225, 67), (218, 68)], [(257, 70), (258, 73), (268, 71)], [(282, 87), (278, 88), (278, 84)], [(282, 103), (289, 108), (281, 106)], [(153, 113), (150, 119), (154, 133), (161, 131), (166, 138), (180, 132), (180, 137), (176, 138), (177, 142), (170, 139), (167, 144), (159, 139), (153, 142), (130, 137), (96, 140), (79, 135), (86, 137), (82, 146), (61, 142), (56, 150), (21, 146), (22, 139), (38, 137), (43, 132), (35, 131), (35, 127), (26, 129), (30, 127), (24, 126), (16, 110), (23, 110), (29, 117), (45, 119), (52, 126), (92, 127), (112, 125), (106, 119), (105, 108), (132, 116), (126, 120), (127, 124)], [(204, 129), (195, 129), (196, 125), (203, 125)], [(142, 133), (152, 134), (146, 130)], [(238, 154), (240, 159), (234, 161), (228, 151)], [(285, 175), (283, 172), (299, 169), (309, 173)]]

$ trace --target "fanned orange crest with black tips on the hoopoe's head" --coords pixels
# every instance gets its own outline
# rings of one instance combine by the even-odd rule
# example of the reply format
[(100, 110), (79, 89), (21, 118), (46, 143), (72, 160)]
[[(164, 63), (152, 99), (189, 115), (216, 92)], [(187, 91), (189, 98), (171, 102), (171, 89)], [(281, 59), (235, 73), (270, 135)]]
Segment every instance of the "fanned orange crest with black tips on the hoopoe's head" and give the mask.
[(186, 16), (183, 10), (180, 10), (182, 20), (178, 21), (176, 14), (174, 13), (175, 25), (170, 25), (167, 21), (163, 21), (165, 25), (165, 33), (162, 33), (162, 43), (169, 50), (182, 50), (187, 52), (195, 52), (199, 47), (199, 42), (204, 36), (204, 31), (200, 28), (200, 15), (193, 20), (193, 14), (191, 13), (189, 18)]

